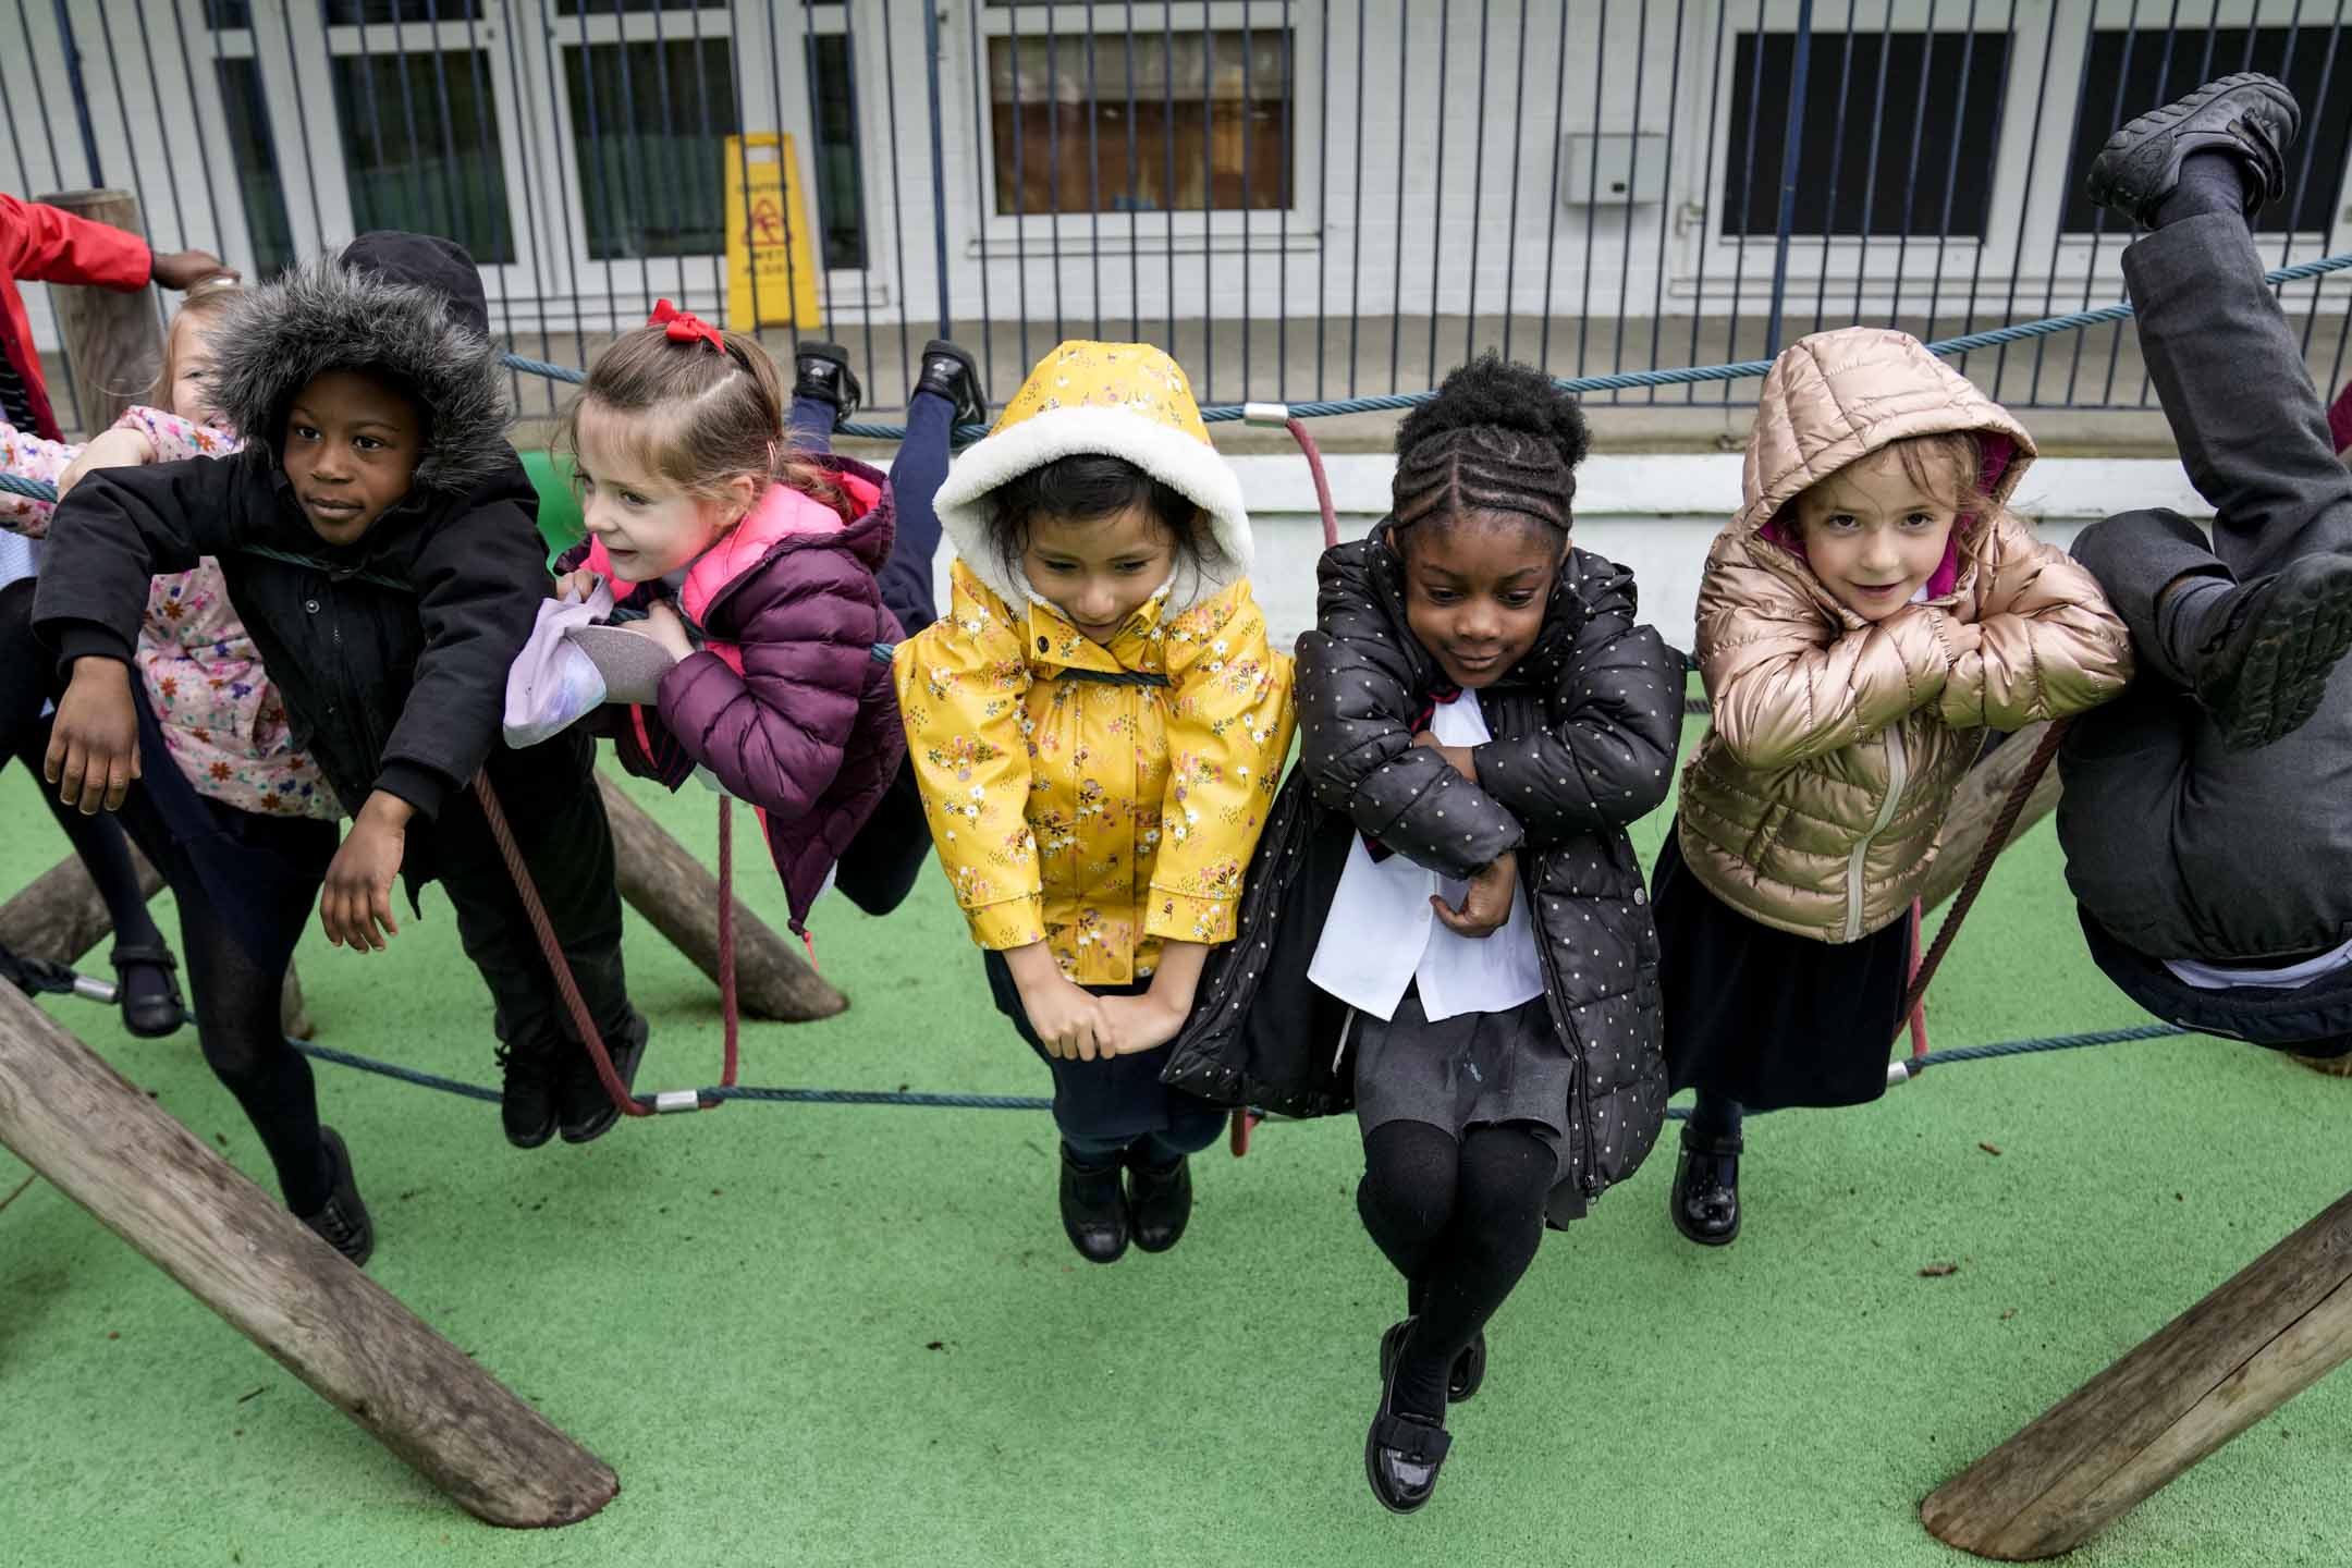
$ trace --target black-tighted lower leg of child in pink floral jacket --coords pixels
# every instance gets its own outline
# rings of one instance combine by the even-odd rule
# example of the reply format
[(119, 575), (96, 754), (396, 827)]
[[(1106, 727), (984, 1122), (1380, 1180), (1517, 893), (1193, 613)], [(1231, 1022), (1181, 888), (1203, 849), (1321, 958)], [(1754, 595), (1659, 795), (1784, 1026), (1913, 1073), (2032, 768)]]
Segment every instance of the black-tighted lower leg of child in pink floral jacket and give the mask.
[(179, 898), (179, 945), (188, 961), (188, 994), (195, 999), (195, 1034), (205, 1046), (205, 1063), (261, 1135), (261, 1147), (278, 1166), (287, 1208), (318, 1213), (327, 1206), (332, 1173), (318, 1138), (310, 1063), (280, 1027), (285, 966), (266, 971), (254, 964), (195, 877), (172, 893)]

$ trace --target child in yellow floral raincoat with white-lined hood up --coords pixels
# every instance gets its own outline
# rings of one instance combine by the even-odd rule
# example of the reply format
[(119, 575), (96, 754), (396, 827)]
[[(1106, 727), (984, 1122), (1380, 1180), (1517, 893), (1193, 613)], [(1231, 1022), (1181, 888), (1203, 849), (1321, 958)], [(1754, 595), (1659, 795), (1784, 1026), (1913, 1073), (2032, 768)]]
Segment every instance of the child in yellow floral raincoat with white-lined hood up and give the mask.
[(1063, 1232), (1094, 1262), (1167, 1251), (1223, 1112), (1160, 1070), (1232, 940), (1294, 729), (1242, 487), (1171, 357), (1063, 343), (955, 461), (938, 520), (953, 604), (896, 658), (938, 860), (1054, 1070)]

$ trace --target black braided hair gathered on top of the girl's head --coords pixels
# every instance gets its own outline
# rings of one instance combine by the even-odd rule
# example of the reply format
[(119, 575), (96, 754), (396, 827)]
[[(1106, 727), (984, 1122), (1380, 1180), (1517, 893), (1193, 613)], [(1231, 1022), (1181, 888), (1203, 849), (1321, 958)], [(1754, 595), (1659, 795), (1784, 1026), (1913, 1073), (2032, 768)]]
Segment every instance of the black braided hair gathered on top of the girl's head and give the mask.
[(1576, 465), (1592, 444), (1571, 393), (1543, 371), (1486, 350), (1444, 378), (1437, 397), (1397, 425), (1390, 529), (1399, 541), (1501, 512), (1557, 531), (1576, 501)]

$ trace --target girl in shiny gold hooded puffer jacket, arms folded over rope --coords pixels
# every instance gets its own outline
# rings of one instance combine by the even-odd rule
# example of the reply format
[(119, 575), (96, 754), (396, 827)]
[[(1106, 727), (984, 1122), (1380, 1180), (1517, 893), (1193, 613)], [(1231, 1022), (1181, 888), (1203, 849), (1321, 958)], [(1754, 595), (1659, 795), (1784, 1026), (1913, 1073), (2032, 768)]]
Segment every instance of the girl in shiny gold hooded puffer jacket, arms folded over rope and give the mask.
[(1740, 1112), (1886, 1091), (1907, 910), (1983, 733), (2117, 696), (2129, 635), (2006, 501), (2034, 456), (1900, 331), (1785, 350), (1708, 552), (1715, 729), (1656, 867), (1665, 1058), (1696, 1086), (1675, 1227), (1738, 1234)]

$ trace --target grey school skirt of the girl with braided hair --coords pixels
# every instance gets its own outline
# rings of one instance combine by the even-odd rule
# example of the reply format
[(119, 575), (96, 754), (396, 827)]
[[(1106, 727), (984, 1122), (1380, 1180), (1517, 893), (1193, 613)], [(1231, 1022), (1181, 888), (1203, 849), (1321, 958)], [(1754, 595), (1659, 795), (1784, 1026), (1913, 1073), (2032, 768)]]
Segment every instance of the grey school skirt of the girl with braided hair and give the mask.
[(1406, 990), (1388, 1023), (1357, 1013), (1355, 1121), (1425, 1121), (1461, 1138), (1472, 1126), (1529, 1124), (1559, 1145), (1569, 1135), (1576, 1060), (1543, 997), (1505, 1013), (1456, 1013), (1430, 1023)]

